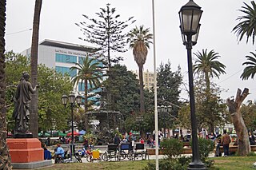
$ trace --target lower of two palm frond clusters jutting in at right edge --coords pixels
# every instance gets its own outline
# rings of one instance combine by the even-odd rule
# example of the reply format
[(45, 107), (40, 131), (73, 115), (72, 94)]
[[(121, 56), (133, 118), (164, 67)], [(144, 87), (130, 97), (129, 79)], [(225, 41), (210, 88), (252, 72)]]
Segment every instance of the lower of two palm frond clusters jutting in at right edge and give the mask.
[(249, 77), (254, 79), (254, 75), (256, 73), (256, 53), (250, 52), (253, 56), (246, 56), (247, 61), (242, 63), (242, 65), (248, 65), (245, 69), (243, 69), (243, 73), (241, 75), (242, 80), (248, 80)]

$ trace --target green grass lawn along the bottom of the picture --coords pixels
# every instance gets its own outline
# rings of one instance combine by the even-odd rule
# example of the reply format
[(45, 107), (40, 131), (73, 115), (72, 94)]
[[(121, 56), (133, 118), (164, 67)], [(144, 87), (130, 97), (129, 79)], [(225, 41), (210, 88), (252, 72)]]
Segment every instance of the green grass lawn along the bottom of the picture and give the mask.
[[(212, 170), (247, 170), (254, 169), (253, 163), (256, 162), (256, 156), (228, 156), (228, 157), (214, 157), (210, 158), (210, 160), (214, 160), (214, 167), (210, 168)], [(136, 169), (141, 170), (146, 167), (149, 161), (155, 160), (137, 160), (137, 161), (121, 161), (121, 162), (100, 162), (100, 163), (70, 163), (70, 164), (54, 164), (47, 168), (40, 168), (44, 170), (63, 170), (63, 169), (104, 169), (104, 170), (126, 170), (126, 169)], [(256, 169), (256, 168), (255, 168)]]

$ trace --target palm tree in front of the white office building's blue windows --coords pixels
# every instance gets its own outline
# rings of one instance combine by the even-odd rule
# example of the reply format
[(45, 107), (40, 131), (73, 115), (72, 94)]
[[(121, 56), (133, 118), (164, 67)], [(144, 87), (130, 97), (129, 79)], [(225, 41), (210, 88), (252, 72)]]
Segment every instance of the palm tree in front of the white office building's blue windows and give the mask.
[[(70, 70), (78, 70), (78, 74), (72, 77), (72, 81), (75, 85), (78, 83), (85, 85), (85, 115), (88, 110), (88, 84), (90, 88), (97, 89), (101, 85), (103, 73), (100, 67), (100, 62), (94, 58), (90, 58), (88, 55), (82, 59), (82, 64), (75, 63), (75, 66), (71, 67)], [(89, 128), (87, 117), (86, 120), (86, 130)]]

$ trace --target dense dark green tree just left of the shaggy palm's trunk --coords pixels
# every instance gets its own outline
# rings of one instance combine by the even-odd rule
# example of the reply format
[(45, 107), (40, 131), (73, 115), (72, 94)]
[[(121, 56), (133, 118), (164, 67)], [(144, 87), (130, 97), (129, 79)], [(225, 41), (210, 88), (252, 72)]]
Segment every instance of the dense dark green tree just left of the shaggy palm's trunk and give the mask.
[(107, 109), (119, 111), (125, 119), (136, 113), (139, 106), (138, 80), (125, 65), (114, 65), (111, 68), (111, 79), (106, 79), (103, 85), (111, 96), (111, 101), (107, 101)]

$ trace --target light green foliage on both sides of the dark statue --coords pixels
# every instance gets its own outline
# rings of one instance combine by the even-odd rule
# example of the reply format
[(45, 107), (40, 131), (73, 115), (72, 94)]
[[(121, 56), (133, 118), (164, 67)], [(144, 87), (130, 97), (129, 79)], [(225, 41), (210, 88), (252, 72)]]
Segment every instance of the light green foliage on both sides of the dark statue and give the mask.
[[(9, 130), (13, 127), (12, 113), (14, 103), (12, 101), (18, 81), (22, 77), (22, 72), (30, 73), (30, 61), (27, 57), (12, 51), (6, 53), (6, 105), (7, 121)], [(38, 126), (39, 131), (67, 128), (67, 121), (70, 120), (70, 109), (65, 109), (62, 105), (62, 94), (70, 93), (73, 85), (70, 77), (55, 73), (54, 69), (49, 69), (45, 65), (38, 65)]]

